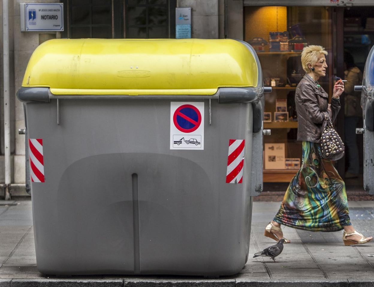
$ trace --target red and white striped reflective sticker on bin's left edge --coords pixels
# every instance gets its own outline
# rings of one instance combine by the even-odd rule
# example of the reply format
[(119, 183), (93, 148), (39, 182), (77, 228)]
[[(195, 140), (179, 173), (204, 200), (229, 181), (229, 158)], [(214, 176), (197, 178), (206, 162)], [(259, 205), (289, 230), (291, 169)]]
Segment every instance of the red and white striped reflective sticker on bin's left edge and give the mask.
[(28, 155), (30, 157), (31, 181), (44, 183), (43, 140), (41, 138), (28, 140)]

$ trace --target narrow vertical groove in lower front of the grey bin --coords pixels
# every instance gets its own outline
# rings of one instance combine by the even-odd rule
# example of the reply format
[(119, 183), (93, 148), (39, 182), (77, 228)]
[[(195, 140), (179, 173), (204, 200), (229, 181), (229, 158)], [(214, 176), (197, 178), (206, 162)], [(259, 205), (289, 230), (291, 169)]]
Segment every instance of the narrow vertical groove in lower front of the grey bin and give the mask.
[(140, 274), (138, 174), (132, 174), (132, 218), (134, 227), (134, 273)]

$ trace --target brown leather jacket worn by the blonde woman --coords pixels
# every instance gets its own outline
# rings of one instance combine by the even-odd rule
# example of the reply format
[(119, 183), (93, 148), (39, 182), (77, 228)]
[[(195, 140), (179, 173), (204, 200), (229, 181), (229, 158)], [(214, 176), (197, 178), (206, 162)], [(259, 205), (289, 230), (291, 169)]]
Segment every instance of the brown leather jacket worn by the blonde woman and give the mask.
[(332, 98), (331, 113), (328, 112), (328, 94), (305, 74), (296, 87), (295, 103), (298, 117), (297, 140), (319, 143), (325, 115), (329, 115), (332, 122), (335, 121), (340, 101)]

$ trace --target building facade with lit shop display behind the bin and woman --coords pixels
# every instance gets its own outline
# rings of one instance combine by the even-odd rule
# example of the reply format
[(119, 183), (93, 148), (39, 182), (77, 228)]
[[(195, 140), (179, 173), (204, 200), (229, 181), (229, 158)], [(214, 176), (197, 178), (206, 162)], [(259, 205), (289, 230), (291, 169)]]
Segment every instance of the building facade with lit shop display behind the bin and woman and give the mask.
[[(0, 0), (1, 15), (6, 12), (3, 11), (3, 1)], [(287, 167), (286, 163), (295, 168), (297, 159), (301, 159), (301, 145), (295, 138), (297, 115), (294, 114), (292, 105), (295, 84), (303, 74), (300, 69), (300, 47), (318, 44), (327, 49), (329, 71), (321, 85), (331, 93), (333, 76), (344, 75), (341, 56), (344, 49), (354, 54), (356, 64), (363, 69), (360, 65), (365, 62), (374, 43), (374, 18), (370, 16), (374, 15), (374, 10), (371, 0), (28, 1), (63, 3), (63, 32), (21, 31), (21, 1), (8, 0), (7, 3), (9, 26), (5, 28), (9, 29), (10, 63), (9, 169), (10, 193), (13, 196), (27, 195), (25, 135), (18, 134), (19, 129), (25, 128), (24, 110), (16, 92), (21, 87), (31, 54), (44, 41), (53, 38), (175, 38), (177, 7), (191, 8), (192, 38), (234, 38), (248, 41), (258, 52), (265, 85), (273, 86), (273, 93), (266, 95), (264, 123), (265, 128), (272, 129), (272, 135), (265, 137), (264, 143), (280, 144), (283, 147), (283, 162), (278, 163), (278, 166), (264, 166), (264, 181), (269, 183), (289, 181), (295, 174), (295, 169)], [(1, 35), (4, 29), (3, 19), (4, 17), (0, 19)], [(0, 184), (4, 186), (4, 37), (0, 38), (0, 43)], [(344, 134), (344, 113), (340, 113), (337, 125), (339, 133)], [(264, 156), (266, 163), (265, 153)], [(340, 174), (344, 173), (346, 165), (344, 160), (338, 163)], [(0, 190), (1, 196), (4, 196), (4, 188)]]

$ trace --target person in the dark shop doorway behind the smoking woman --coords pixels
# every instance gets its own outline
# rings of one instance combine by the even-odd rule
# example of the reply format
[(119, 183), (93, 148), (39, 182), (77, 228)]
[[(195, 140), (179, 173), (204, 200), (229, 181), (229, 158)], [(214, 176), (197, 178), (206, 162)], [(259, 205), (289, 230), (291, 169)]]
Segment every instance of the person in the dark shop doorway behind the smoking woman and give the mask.
[(346, 178), (359, 175), (359, 155), (356, 128), (362, 118), (361, 93), (355, 92), (355, 85), (362, 84), (362, 72), (355, 65), (352, 54), (344, 52), (344, 142), (348, 150), (348, 169)]

